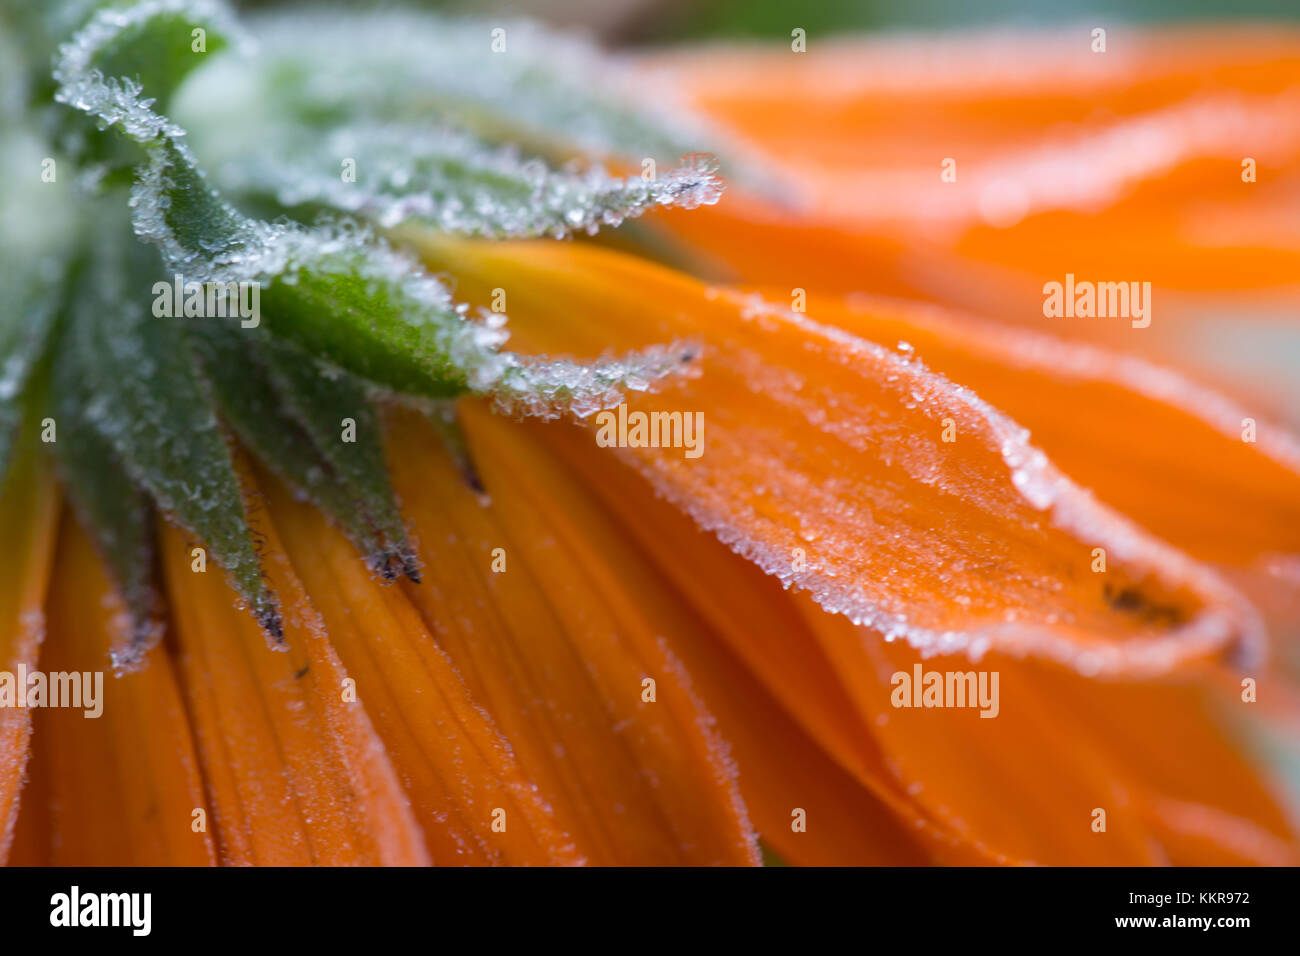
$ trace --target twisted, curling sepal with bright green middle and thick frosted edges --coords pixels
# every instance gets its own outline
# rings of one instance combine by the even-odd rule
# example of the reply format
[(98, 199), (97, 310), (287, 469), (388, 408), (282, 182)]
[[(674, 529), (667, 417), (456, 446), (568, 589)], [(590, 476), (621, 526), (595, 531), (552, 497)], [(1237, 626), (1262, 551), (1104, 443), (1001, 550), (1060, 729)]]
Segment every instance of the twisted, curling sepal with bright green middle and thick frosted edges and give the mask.
[(144, 151), (131, 193), (136, 235), (157, 246), (185, 280), (260, 290), (272, 334), (393, 392), (445, 398), (490, 394), (512, 411), (555, 416), (618, 403), (618, 385), (646, 384), (681, 367), (682, 349), (654, 349), (580, 365), (500, 352), (495, 321), (469, 321), (417, 263), (346, 224), (304, 229), (250, 219), (204, 181), (185, 131), (153, 111), (130, 79), (91, 64), (130, 25), (186, 0), (146, 0), (101, 12), (62, 48), (61, 103), (114, 127)]

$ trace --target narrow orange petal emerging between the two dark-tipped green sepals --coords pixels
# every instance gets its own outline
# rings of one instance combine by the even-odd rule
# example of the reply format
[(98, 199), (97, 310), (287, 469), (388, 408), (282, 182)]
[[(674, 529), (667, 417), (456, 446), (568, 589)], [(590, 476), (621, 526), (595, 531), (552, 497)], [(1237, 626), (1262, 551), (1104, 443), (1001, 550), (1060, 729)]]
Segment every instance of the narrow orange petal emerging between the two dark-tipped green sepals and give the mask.
[(289, 559), (364, 695), (434, 860), (581, 862), (566, 808), (547, 804), (406, 594), (374, 580), (318, 511), (265, 486)]

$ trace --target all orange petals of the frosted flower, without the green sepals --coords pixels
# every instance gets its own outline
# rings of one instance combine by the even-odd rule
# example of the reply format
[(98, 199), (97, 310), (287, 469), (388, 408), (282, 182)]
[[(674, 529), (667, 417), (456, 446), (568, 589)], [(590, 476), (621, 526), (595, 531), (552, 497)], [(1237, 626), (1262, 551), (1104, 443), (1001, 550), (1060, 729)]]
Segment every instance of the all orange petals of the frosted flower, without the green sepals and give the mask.
[[(1216, 372), (1209, 294), (1296, 300), (1300, 35), (1127, 39), (668, 55), (786, 202), (634, 251), (399, 230), (521, 354), (690, 360), (577, 427), (389, 403), (419, 580), (237, 453), (281, 646), (161, 528), (103, 718), (0, 710), (0, 858), (1296, 864), (1245, 740), (1297, 715), (1300, 445), (1271, 382), (1157, 363)], [(1149, 326), (1044, 316), (1066, 273), (1150, 282)], [(0, 658), (103, 670), (126, 609), (30, 432)]]

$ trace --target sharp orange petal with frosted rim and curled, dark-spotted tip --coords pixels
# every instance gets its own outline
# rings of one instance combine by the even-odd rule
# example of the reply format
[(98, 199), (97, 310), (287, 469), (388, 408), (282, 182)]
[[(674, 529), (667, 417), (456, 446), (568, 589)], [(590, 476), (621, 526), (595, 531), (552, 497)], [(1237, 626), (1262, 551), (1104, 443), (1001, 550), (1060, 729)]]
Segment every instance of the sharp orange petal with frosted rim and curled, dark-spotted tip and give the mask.
[(504, 287), (525, 349), (703, 339), (698, 377), (628, 399), (702, 414), (703, 454), (621, 454), (829, 610), (931, 653), (1002, 648), (1086, 672), (1158, 672), (1262, 644), (1222, 579), (1098, 505), (1019, 425), (906, 355), (603, 250), (424, 248), (471, 298)]

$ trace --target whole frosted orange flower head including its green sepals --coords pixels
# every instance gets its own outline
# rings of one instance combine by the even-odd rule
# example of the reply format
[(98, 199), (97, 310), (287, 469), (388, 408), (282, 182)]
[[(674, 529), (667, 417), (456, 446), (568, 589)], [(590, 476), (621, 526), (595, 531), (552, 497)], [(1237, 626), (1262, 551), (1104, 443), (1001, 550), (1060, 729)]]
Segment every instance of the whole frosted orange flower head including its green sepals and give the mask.
[(1296, 860), (1295, 36), (0, 10), (0, 857)]

